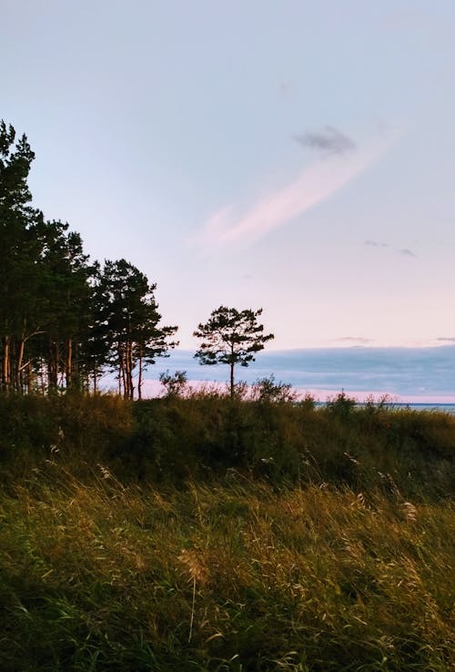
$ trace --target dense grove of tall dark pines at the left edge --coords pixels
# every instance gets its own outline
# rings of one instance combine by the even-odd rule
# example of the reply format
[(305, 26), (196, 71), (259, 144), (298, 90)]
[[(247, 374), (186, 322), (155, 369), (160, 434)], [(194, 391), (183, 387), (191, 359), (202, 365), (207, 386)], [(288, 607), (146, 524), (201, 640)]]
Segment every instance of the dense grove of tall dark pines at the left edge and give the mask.
[(156, 285), (133, 264), (90, 260), (78, 233), (31, 205), (34, 158), (25, 135), (2, 121), (1, 390), (96, 391), (109, 369), (119, 393), (140, 398), (143, 372), (177, 344), (177, 327), (159, 326)]

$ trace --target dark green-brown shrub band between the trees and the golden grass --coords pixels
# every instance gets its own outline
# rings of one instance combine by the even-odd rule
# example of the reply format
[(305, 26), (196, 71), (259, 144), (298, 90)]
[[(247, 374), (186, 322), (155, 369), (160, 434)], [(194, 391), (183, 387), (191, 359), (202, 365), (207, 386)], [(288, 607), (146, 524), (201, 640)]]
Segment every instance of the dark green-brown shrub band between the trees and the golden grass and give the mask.
[[(272, 391), (273, 392), (273, 391)], [(272, 395), (273, 397), (273, 395)], [(230, 470), (269, 483), (330, 483), (407, 498), (453, 493), (455, 418), (353, 405), (232, 398), (219, 391), (0, 397), (4, 479), (46, 461), (86, 477), (102, 463), (129, 481), (183, 484)]]

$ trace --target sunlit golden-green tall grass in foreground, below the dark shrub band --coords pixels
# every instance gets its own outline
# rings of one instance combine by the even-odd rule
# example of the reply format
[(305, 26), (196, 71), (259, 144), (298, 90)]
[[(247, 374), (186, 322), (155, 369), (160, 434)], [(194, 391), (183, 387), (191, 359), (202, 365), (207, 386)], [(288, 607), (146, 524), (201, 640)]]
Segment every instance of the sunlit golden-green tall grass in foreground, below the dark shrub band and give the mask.
[(3, 670), (454, 663), (450, 501), (48, 469), (1, 500)]

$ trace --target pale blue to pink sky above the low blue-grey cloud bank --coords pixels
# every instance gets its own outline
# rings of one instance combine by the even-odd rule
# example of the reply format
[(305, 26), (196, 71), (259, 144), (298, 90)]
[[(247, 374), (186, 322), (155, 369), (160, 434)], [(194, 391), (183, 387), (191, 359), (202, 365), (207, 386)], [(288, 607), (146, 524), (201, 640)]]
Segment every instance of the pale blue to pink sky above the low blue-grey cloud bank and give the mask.
[(268, 350), (455, 343), (453, 0), (0, 0), (35, 204)]

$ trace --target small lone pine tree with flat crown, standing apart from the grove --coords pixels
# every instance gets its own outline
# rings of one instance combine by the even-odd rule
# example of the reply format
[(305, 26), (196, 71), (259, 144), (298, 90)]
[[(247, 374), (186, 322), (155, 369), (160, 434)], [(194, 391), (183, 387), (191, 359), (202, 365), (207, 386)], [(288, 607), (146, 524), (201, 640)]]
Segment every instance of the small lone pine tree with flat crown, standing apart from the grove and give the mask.
[(256, 352), (264, 349), (271, 341), (273, 333), (264, 334), (264, 327), (258, 323), (258, 311), (238, 311), (220, 306), (213, 311), (205, 324), (199, 324), (194, 335), (202, 339), (195, 357), (201, 364), (228, 364), (231, 396), (234, 395), (234, 367), (248, 366), (254, 361)]

